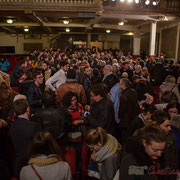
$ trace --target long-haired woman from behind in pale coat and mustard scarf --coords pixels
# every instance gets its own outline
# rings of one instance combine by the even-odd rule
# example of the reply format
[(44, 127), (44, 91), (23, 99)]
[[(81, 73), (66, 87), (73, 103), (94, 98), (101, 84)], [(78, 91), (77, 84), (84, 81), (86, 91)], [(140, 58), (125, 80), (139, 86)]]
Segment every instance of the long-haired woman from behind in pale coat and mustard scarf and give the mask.
[(60, 151), (48, 131), (38, 132), (30, 145), (29, 165), (22, 168), (20, 180), (72, 180), (70, 167), (61, 160)]

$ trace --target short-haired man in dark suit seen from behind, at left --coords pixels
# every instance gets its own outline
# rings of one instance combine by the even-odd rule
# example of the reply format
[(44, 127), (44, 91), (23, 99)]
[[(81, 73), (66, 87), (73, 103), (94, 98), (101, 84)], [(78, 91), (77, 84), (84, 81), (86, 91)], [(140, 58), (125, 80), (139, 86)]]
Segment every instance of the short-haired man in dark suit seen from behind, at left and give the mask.
[(28, 146), (33, 136), (40, 130), (40, 126), (29, 120), (30, 109), (27, 100), (14, 101), (14, 112), (17, 120), (10, 127), (12, 142), (16, 151), (16, 177), (28, 160)]

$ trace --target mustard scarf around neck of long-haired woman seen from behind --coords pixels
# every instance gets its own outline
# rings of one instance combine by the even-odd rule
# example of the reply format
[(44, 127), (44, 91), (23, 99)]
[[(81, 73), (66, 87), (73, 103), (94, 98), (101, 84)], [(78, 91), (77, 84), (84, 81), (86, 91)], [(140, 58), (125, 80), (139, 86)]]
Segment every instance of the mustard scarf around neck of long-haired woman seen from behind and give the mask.
[(37, 166), (46, 166), (49, 164), (54, 164), (58, 161), (59, 161), (59, 159), (58, 159), (57, 155), (51, 154), (49, 156), (37, 156), (35, 158), (30, 159), (28, 163), (35, 164)]

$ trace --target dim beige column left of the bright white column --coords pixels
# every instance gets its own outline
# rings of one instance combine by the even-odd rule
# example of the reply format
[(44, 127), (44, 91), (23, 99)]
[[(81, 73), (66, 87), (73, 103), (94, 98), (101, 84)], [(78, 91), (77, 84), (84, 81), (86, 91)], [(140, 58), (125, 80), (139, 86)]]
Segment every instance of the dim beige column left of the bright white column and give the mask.
[(133, 36), (133, 56), (140, 56), (140, 32), (134, 32)]

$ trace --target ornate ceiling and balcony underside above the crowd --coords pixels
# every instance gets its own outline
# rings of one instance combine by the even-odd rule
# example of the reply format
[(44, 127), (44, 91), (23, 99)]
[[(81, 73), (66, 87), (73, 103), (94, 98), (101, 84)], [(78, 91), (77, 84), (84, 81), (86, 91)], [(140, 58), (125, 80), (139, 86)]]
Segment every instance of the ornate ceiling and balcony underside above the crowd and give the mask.
[[(121, 3), (119, 0), (0, 0), (0, 32), (11, 34), (112, 33), (149, 32), (152, 21), (158, 28), (178, 25), (179, 0), (161, 0), (157, 6)], [(13, 19), (8, 24), (7, 19)], [(166, 21), (168, 19), (168, 21)], [(69, 24), (63, 24), (69, 20)], [(124, 21), (124, 25), (118, 22)], [(29, 31), (24, 32), (24, 27)]]

